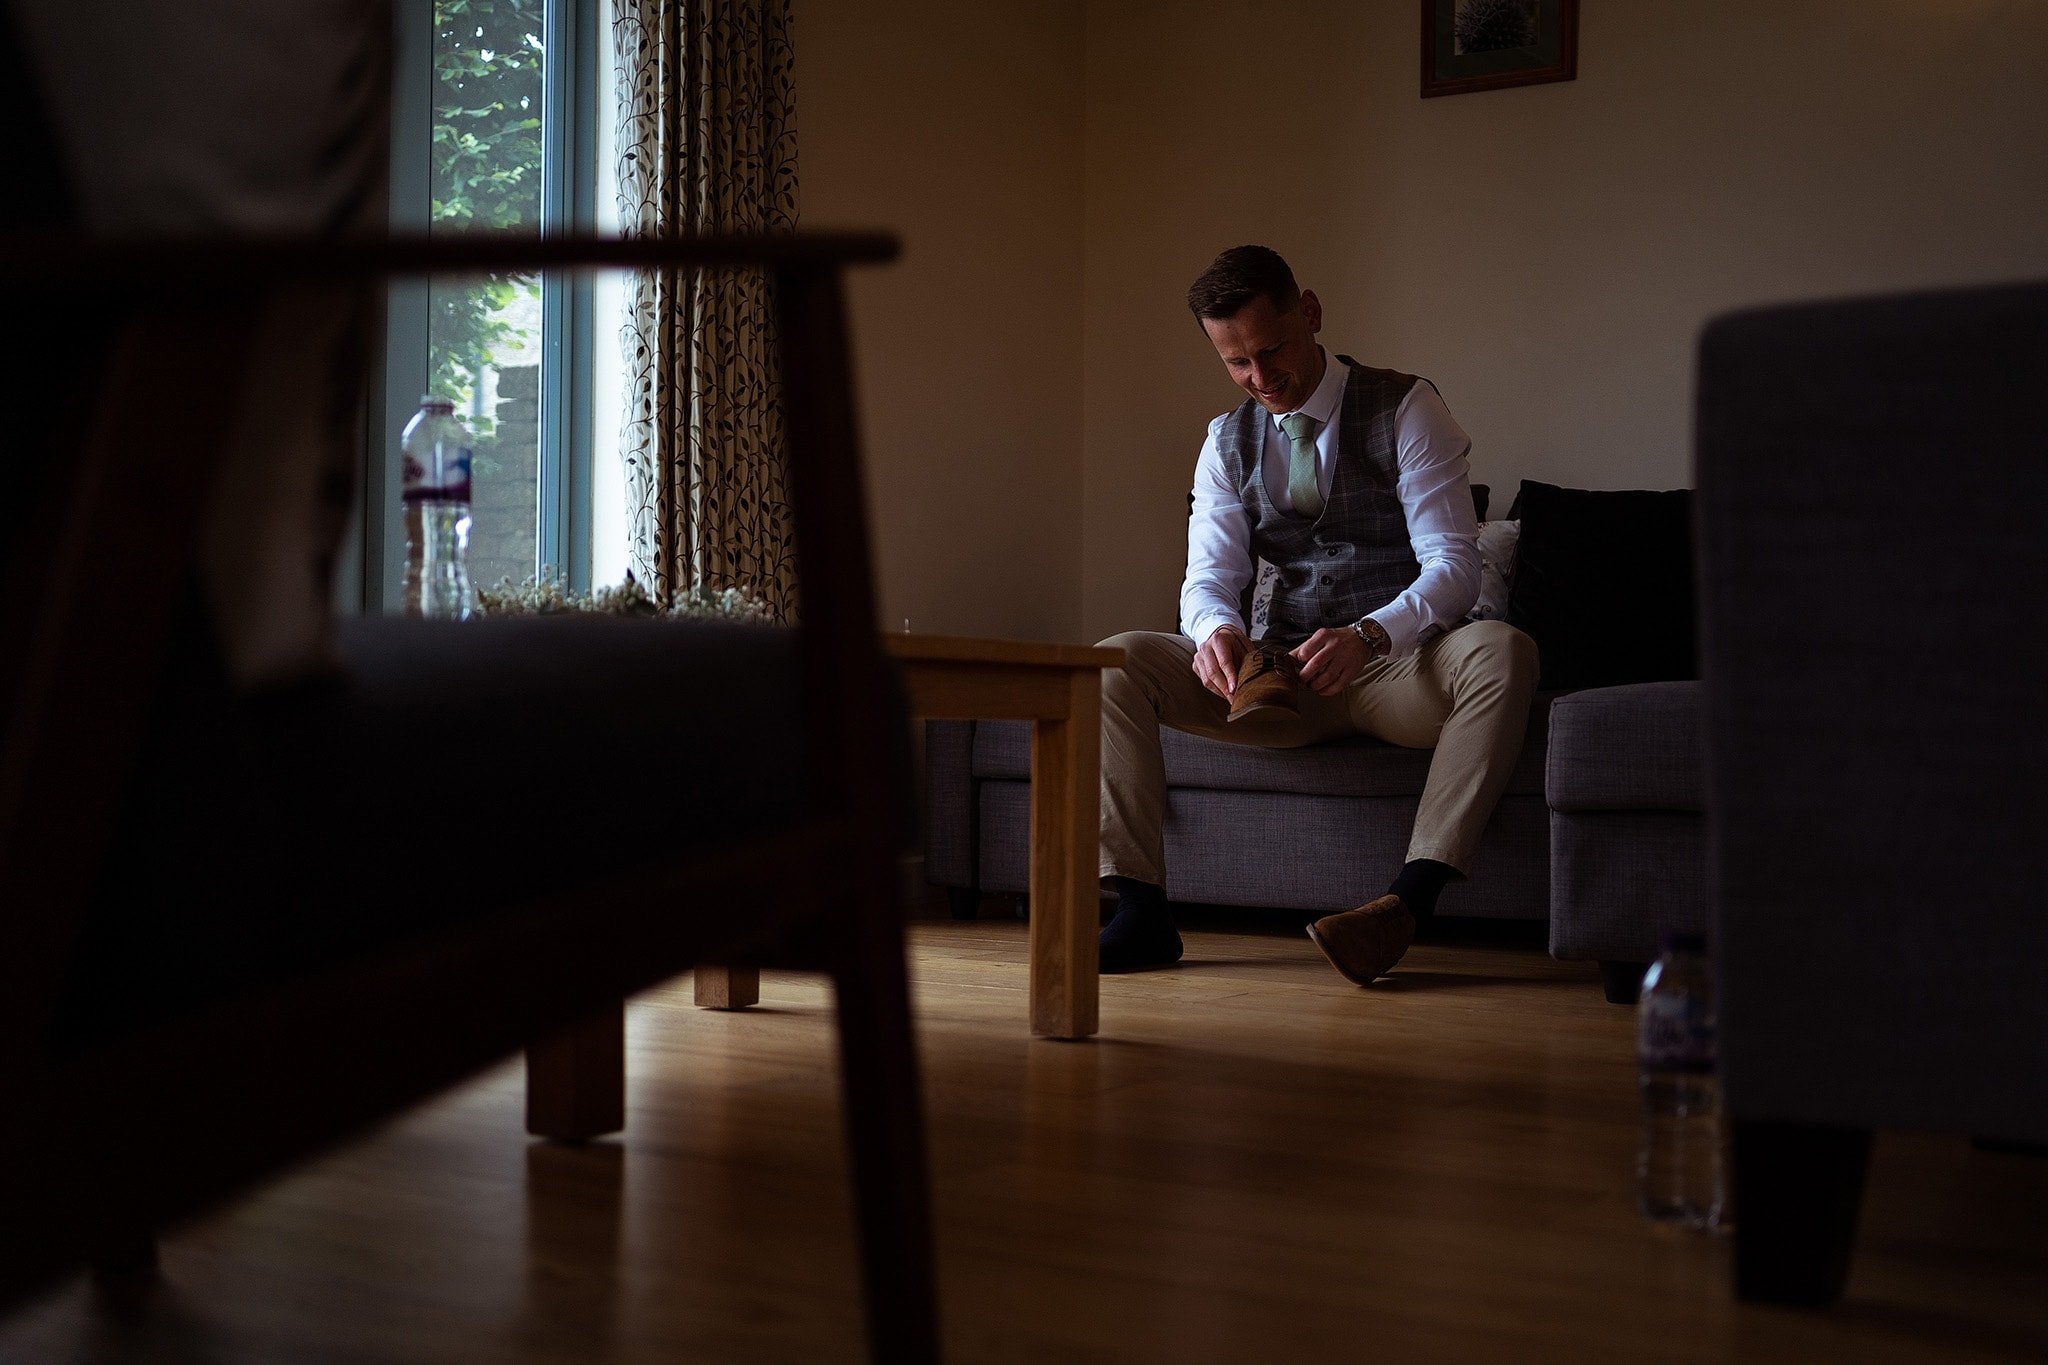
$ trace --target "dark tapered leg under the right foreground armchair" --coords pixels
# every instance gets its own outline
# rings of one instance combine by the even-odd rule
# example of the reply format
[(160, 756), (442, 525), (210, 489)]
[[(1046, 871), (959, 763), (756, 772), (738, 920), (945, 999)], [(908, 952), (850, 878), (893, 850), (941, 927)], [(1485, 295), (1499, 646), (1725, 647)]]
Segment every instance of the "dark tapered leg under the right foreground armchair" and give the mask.
[(1841, 1297), (1868, 1166), (1868, 1128), (1737, 1121), (1737, 1297), (1792, 1308)]

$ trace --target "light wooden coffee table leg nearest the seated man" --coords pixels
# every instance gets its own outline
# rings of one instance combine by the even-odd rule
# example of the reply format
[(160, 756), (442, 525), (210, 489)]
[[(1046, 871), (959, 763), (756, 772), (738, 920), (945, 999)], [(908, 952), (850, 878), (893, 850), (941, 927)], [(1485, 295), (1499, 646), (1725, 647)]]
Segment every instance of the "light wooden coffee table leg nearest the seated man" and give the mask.
[(1102, 675), (1077, 669), (1067, 716), (1030, 737), (1030, 1031), (1096, 1031), (1096, 866), (1100, 845)]

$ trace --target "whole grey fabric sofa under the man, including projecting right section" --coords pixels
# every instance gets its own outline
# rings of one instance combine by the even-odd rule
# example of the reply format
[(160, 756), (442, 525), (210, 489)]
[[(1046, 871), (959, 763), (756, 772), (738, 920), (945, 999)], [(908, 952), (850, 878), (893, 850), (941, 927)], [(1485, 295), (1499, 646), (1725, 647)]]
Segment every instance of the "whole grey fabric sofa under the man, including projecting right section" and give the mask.
[[(1487, 489), (1473, 493), (1485, 518)], [(1690, 598), (1688, 585), (1679, 600)], [(1253, 749), (1180, 731), (1161, 739), (1174, 900), (1339, 911), (1380, 894), (1407, 853), (1427, 749), (1366, 737), (1307, 749)], [(975, 915), (983, 892), (1022, 896), (1028, 724), (934, 720), (926, 763), (928, 880), (946, 888), (958, 917)], [(1608, 999), (1634, 1003), (1659, 937), (1706, 921), (1700, 772), (1698, 684), (1538, 692), (1473, 878), (1446, 888), (1438, 911), (1548, 919), (1556, 958), (1599, 962)]]

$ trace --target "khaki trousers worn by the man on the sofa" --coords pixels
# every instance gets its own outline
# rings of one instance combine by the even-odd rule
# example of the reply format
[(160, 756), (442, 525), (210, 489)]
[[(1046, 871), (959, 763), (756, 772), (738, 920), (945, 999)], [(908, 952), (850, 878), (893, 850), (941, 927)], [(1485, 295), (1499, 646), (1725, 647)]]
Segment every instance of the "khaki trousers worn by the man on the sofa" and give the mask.
[[(1536, 692), (1536, 643), (1499, 620), (1477, 620), (1401, 659), (1378, 659), (1339, 696), (1300, 690), (1300, 716), (1253, 712), (1194, 675), (1194, 641), (1130, 630), (1104, 645), (1124, 667), (1102, 673), (1102, 876), (1165, 884), (1165, 759), (1159, 726), (1268, 749), (1372, 735), (1436, 749), (1415, 812), (1409, 862), (1430, 857), (1462, 876), (1479, 831), (1507, 786)], [(1389, 880), (1397, 868), (1389, 868)]]

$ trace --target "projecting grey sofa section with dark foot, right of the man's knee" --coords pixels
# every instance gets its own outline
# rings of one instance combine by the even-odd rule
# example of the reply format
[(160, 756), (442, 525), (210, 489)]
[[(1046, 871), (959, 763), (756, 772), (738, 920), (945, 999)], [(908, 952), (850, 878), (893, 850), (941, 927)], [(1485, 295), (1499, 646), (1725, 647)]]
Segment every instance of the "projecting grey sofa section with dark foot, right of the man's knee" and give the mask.
[(1696, 681), (1550, 706), (1550, 956), (1595, 960), (1634, 1005), (1669, 931), (1706, 929), (1706, 737)]

